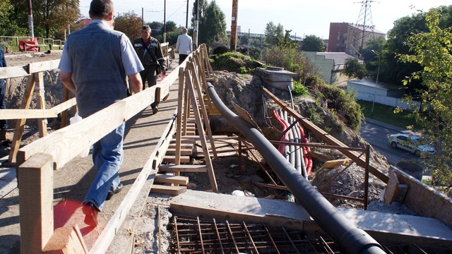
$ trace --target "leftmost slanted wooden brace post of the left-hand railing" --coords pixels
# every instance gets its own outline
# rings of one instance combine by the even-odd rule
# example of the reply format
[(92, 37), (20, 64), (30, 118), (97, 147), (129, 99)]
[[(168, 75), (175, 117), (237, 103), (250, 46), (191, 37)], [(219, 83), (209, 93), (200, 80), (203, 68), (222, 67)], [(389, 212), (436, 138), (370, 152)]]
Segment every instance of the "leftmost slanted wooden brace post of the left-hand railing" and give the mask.
[[(28, 109), (32, 99), (32, 91), (35, 90), (35, 75), (30, 75), (27, 80), (27, 86), (23, 94), (22, 104), (20, 109)], [(16, 121), (16, 129), (14, 130), (13, 141), (11, 141), (11, 150), (9, 151), (8, 162), (16, 163), (16, 155), (19, 150), (20, 140), (22, 140), (23, 129), (25, 128), (25, 120), (20, 119)], [(18, 165), (16, 165), (17, 167)]]

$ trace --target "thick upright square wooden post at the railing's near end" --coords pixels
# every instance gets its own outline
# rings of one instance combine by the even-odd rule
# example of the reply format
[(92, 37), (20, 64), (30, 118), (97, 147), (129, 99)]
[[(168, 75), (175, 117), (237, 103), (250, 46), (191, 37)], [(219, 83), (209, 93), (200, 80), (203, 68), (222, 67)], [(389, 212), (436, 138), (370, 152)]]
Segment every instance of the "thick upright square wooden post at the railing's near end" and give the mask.
[(54, 233), (54, 167), (38, 153), (18, 167), (20, 253), (41, 253)]

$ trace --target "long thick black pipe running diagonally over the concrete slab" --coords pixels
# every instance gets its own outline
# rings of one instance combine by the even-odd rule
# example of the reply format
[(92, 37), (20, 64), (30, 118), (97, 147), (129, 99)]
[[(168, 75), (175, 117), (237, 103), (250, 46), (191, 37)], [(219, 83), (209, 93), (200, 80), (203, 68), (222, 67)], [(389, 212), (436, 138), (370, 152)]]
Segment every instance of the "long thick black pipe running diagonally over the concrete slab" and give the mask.
[(218, 97), (213, 85), (208, 83), (207, 88), (210, 98), (222, 116), (253, 143), (275, 174), (323, 231), (333, 238), (343, 253), (385, 253), (374, 238), (358, 229), (326, 198), (323, 198), (323, 195), (316, 191), (256, 128), (228, 109)]

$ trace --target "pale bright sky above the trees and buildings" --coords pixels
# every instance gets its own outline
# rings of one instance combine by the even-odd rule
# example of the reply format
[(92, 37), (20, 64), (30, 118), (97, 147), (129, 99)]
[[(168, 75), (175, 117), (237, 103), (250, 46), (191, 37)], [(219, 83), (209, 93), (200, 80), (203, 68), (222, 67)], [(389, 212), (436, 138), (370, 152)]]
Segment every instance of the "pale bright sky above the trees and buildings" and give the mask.
[[(190, 27), (194, 0), (188, 1)], [(215, 1), (225, 13), (227, 30), (230, 31), (232, 0)], [(316, 35), (328, 39), (330, 23), (359, 21), (363, 1), (365, 0), (238, 0), (237, 25), (241, 32), (263, 34), (266, 24), (271, 21), (275, 25), (283, 25), (285, 30), (292, 30), (291, 35), (297, 37)], [(88, 17), (90, 2), (80, 0), (82, 16)], [(143, 13), (145, 23), (163, 22), (165, 2), (166, 20), (185, 26), (187, 0), (114, 0), (114, 13), (118, 15), (133, 11), (138, 16)], [(452, 5), (451, 0), (368, 0), (367, 3), (370, 5), (371, 23), (376, 30), (384, 33), (393, 28), (395, 20), (411, 16), (417, 10), (428, 11), (429, 8)], [(367, 17), (366, 25), (371, 25), (369, 22)]]

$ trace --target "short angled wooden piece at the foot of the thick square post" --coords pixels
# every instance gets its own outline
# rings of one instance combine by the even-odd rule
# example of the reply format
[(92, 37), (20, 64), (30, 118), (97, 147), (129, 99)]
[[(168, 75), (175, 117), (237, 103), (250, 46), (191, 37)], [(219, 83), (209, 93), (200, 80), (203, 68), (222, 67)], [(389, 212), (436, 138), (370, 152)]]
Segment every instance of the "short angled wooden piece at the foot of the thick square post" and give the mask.
[(42, 250), (45, 254), (88, 254), (78, 226), (63, 226), (55, 229), (52, 238)]

